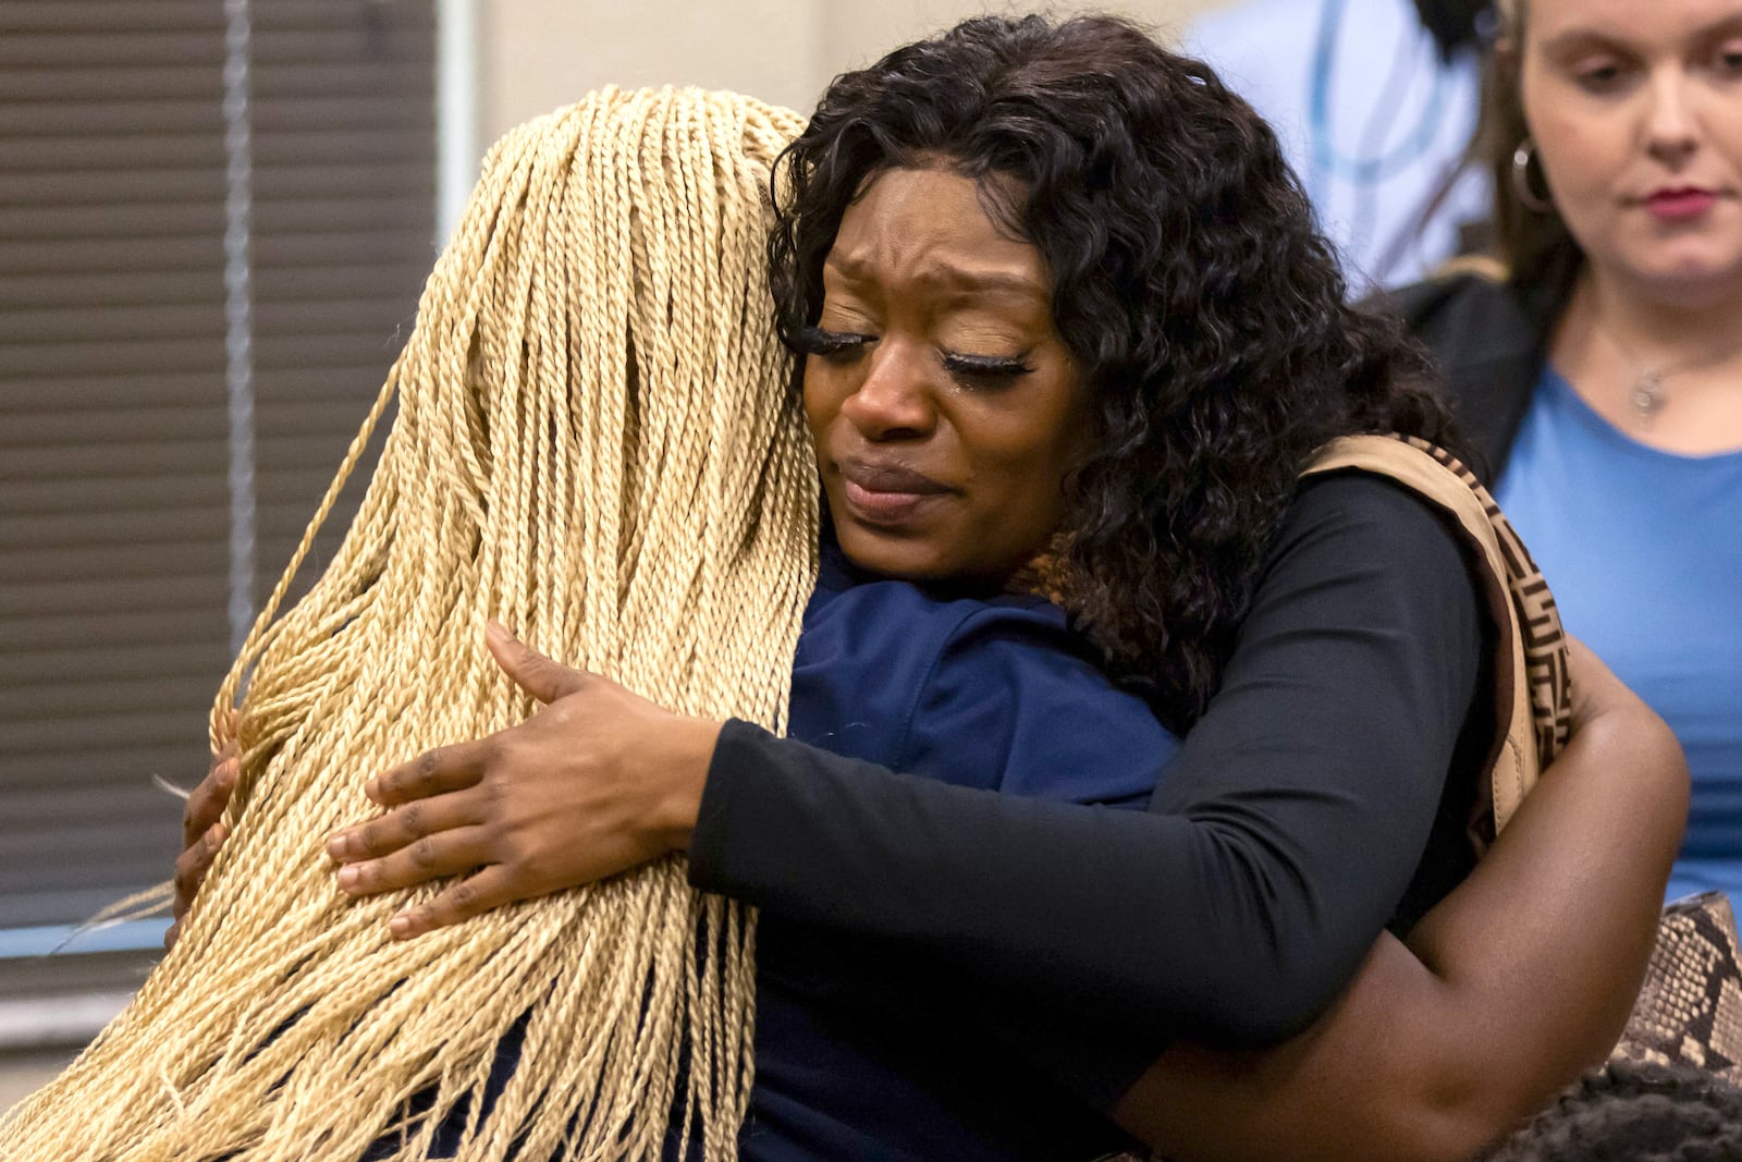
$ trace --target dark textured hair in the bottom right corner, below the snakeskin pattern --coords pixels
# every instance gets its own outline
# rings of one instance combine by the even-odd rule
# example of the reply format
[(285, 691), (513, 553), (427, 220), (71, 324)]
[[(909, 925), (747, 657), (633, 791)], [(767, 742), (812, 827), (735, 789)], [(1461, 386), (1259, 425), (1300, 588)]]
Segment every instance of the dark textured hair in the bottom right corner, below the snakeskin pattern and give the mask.
[(1566, 1089), (1484, 1162), (1735, 1162), (1742, 1089), (1691, 1064), (1617, 1059)]

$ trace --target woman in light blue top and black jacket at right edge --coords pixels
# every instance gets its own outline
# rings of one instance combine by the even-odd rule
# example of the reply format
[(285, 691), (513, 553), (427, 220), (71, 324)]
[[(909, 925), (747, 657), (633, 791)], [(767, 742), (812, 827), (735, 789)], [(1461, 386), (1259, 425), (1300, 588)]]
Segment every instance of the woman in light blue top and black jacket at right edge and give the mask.
[(1671, 897), (1742, 894), (1742, 0), (1503, 0), (1503, 280), (1397, 296), (1570, 632), (1693, 777)]

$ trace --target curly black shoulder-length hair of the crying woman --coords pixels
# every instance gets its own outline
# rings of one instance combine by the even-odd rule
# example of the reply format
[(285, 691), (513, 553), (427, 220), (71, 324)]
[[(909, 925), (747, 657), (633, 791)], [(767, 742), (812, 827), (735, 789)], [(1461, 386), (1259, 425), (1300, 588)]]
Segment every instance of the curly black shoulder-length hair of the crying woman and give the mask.
[(1324, 441), (1446, 439), (1394, 324), (1347, 305), (1272, 129), (1202, 63), (1106, 16), (977, 17), (836, 77), (775, 169), (780, 336), (803, 350), (866, 183), (942, 166), (1031, 242), (1089, 392), (1059, 577), (1115, 679), (1183, 730)]

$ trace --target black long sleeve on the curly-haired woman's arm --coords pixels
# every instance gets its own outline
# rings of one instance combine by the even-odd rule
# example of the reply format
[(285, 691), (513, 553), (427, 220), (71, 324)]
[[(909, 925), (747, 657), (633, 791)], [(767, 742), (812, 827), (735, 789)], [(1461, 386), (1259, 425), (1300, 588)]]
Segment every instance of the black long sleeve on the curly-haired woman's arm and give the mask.
[(1371, 476), (1317, 477), (1148, 812), (897, 775), (732, 721), (692, 880), (901, 941), (1016, 1012), (1033, 1005), (1007, 1031), (1017, 1051), (1111, 1105), (1174, 1037), (1298, 1031), (1381, 929), (1406, 929), (1469, 869), (1489, 733), (1481, 610), (1421, 502)]

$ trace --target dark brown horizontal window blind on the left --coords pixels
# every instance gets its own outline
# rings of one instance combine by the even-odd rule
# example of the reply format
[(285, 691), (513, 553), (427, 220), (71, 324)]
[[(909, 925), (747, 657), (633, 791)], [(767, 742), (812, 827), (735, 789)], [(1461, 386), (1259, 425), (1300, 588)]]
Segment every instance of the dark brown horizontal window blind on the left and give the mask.
[[(232, 598), (270, 591), (430, 267), (434, 54), (430, 0), (0, 3), (0, 934), (167, 878), (152, 775), (204, 775)], [(0, 996), (26, 977), (0, 941)]]

